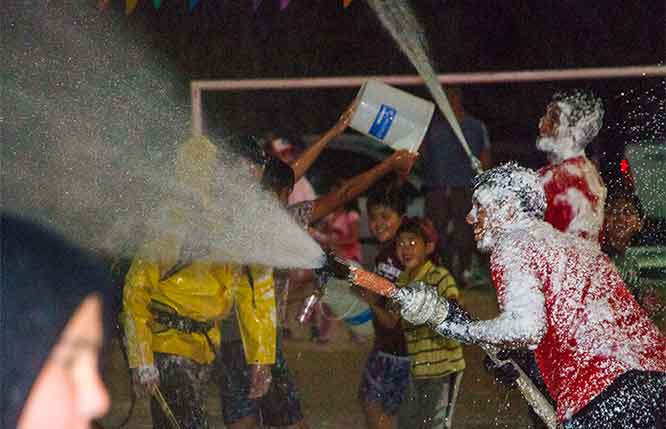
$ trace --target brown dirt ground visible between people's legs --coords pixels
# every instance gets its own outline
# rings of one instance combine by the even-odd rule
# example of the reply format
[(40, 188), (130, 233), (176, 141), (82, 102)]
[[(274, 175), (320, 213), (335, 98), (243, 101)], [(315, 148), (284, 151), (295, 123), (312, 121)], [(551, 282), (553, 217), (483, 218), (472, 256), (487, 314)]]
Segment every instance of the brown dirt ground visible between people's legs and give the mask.
[[(480, 287), (464, 292), (465, 306), (480, 318), (496, 314), (494, 290)], [(299, 326), (293, 315), (298, 296), (290, 299), (292, 339), (284, 342), (289, 367), (293, 373), (303, 411), (312, 429), (363, 429), (364, 417), (356, 399), (356, 389), (371, 343), (356, 344), (340, 322), (334, 325), (328, 344), (312, 343), (306, 327)], [(105, 379), (112, 399), (104, 427), (117, 425), (127, 415), (130, 403), (127, 368), (117, 344), (112, 348)], [(454, 414), (454, 428), (525, 428), (527, 407), (516, 390), (493, 383), (483, 368), (483, 353), (477, 347), (465, 348), (467, 369)], [(211, 428), (224, 428), (216, 386), (211, 383), (208, 399)], [(145, 399), (137, 401), (128, 424), (131, 429), (152, 428)]]

